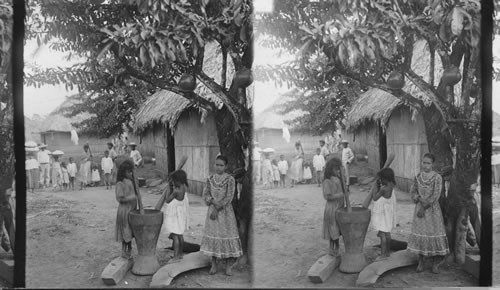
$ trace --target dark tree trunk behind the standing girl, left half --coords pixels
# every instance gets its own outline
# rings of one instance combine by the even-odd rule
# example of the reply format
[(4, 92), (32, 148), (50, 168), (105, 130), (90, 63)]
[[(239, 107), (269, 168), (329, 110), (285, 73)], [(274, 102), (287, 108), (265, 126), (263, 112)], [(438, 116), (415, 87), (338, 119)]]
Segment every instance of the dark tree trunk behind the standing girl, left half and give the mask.
[[(247, 158), (244, 154), (244, 149), (248, 147), (251, 139), (251, 112), (241, 112), (241, 119), (244, 121), (240, 124), (240, 129), (237, 129), (234, 117), (231, 112), (223, 106), (215, 114), (215, 124), (217, 128), (217, 137), (219, 139), (219, 147), (222, 155), (226, 156), (229, 163), (227, 172), (232, 173), (237, 168), (245, 168)], [(251, 164), (248, 162), (248, 164)], [(244, 255), (251, 257), (251, 247), (249, 246), (252, 222), (252, 170), (248, 166), (245, 177), (243, 178), (242, 190), (240, 198), (234, 204), (236, 219), (238, 221), (238, 230), (241, 243), (243, 246)]]

